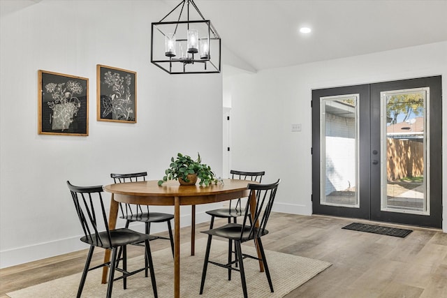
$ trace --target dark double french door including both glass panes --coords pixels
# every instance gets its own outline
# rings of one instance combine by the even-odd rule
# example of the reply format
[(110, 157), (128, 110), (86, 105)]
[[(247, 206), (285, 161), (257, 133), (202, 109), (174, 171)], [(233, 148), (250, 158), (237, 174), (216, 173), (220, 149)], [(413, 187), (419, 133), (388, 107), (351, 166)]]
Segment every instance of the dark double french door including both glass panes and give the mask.
[(441, 77), (312, 91), (312, 207), (441, 227)]

